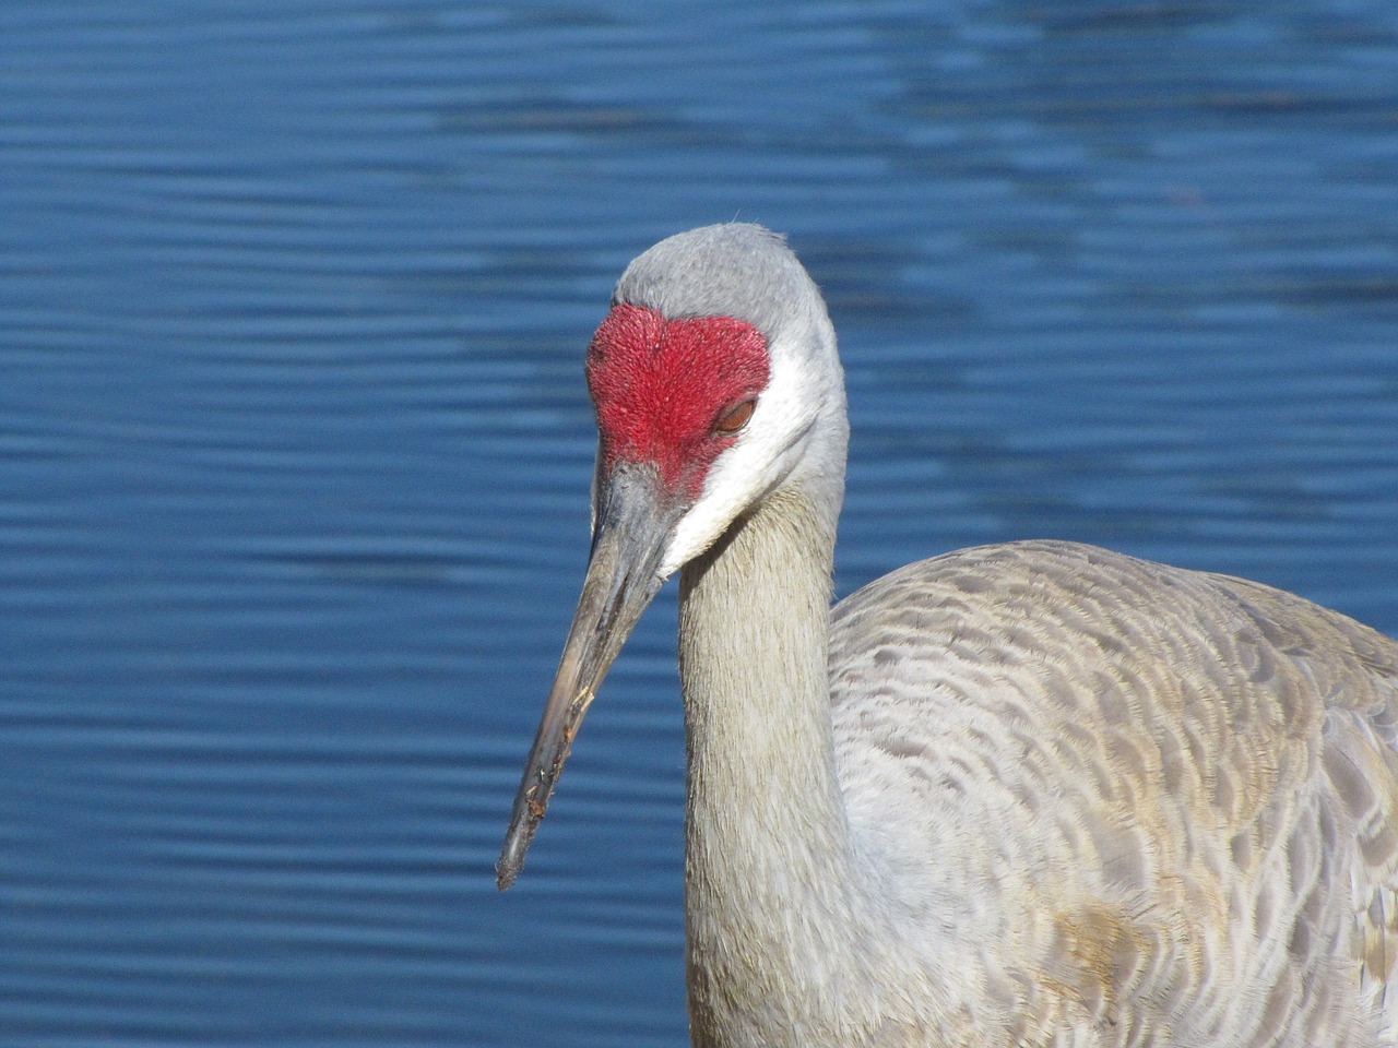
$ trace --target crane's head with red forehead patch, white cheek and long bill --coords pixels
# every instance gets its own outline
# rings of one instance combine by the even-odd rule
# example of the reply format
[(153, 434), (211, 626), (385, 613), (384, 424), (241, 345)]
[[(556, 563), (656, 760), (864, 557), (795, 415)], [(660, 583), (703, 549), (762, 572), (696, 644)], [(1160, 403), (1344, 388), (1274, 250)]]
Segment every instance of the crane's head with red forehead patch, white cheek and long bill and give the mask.
[(776, 488), (833, 488), (822, 503), (837, 510), (843, 485), (835, 331), (801, 263), (761, 226), (693, 229), (632, 261), (586, 372), (598, 428), (593, 546), (496, 865), (502, 890), (587, 706), (665, 578)]

